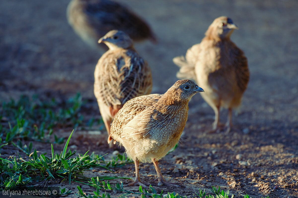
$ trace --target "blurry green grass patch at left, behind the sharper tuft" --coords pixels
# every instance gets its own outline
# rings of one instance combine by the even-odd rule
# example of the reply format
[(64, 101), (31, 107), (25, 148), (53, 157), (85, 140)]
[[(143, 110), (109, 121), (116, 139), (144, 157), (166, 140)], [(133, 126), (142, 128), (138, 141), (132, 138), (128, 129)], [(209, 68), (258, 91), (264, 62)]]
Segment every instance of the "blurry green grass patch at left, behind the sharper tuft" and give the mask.
[(57, 137), (53, 129), (90, 128), (99, 125), (104, 128), (102, 119), (84, 119), (81, 109), (86, 101), (80, 94), (60, 102), (55, 99), (41, 101), (37, 95), (21, 96), (18, 101), (0, 102), (0, 152), (1, 148), (12, 143), (27, 155), (32, 145), (23, 146), (21, 140), (63, 143), (63, 137)]

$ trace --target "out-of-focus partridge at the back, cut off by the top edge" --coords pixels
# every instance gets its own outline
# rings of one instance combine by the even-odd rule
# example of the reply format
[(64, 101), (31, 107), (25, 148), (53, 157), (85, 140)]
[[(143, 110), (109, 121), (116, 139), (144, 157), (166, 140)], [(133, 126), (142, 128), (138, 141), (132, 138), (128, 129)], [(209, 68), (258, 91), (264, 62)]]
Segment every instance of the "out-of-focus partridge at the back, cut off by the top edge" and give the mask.
[(67, 20), (75, 32), (89, 45), (108, 31), (124, 31), (134, 41), (156, 38), (147, 23), (125, 6), (110, 0), (72, 0), (67, 7)]

